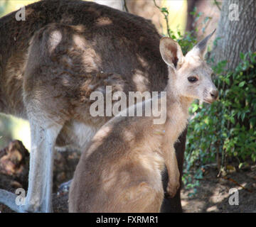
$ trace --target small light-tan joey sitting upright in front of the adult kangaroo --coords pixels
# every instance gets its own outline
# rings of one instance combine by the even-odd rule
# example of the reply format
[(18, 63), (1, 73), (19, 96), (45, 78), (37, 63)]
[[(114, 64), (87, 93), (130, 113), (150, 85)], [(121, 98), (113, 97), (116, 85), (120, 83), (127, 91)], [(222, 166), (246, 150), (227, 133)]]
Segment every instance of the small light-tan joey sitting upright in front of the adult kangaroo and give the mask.
[[(176, 194), (180, 174), (174, 143), (186, 128), (188, 107), (193, 99), (217, 99), (211, 95), (217, 90), (209, 79), (210, 67), (202, 59), (206, 45), (199, 50), (198, 46), (183, 57), (178, 43), (171, 38), (161, 39), (161, 55), (169, 65), (166, 99), (158, 97), (158, 109), (160, 100), (166, 101), (165, 123), (155, 124), (154, 116), (145, 114), (120, 114), (105, 123), (82, 153), (75, 170), (69, 193), (70, 212), (159, 212), (164, 198), (164, 165), (169, 174), (167, 192), (170, 196)], [(189, 62), (193, 62), (190, 67)], [(198, 77), (197, 82), (189, 82), (191, 74)], [(145, 105), (152, 99), (129, 109), (142, 105), (145, 113)], [(129, 109), (125, 111), (129, 113)]]

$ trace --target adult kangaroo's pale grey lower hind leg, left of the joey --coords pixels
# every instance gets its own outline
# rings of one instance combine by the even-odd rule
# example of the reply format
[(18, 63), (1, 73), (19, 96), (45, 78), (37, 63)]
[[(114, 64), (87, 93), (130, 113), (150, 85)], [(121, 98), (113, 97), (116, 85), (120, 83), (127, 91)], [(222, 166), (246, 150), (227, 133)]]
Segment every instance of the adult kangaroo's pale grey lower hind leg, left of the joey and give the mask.
[(62, 126), (54, 122), (38, 124), (30, 118), (31, 155), (25, 211), (51, 212), (55, 140)]

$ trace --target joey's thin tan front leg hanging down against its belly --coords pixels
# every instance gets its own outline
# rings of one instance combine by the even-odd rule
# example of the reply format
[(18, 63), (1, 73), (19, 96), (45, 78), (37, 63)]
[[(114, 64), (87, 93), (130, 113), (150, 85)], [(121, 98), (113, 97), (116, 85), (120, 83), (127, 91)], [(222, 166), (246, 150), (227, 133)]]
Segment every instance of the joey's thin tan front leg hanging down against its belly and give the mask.
[(164, 145), (162, 152), (164, 153), (164, 161), (169, 175), (169, 182), (166, 190), (171, 197), (174, 197), (180, 187), (180, 172), (178, 171), (178, 162), (174, 146), (168, 143)]

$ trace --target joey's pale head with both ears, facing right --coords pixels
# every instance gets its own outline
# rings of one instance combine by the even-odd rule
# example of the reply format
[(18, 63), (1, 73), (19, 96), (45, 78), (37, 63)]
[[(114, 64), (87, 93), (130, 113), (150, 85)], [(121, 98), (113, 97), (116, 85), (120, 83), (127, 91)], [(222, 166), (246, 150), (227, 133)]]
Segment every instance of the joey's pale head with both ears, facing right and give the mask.
[(175, 89), (178, 95), (207, 103), (218, 98), (218, 90), (211, 79), (213, 70), (203, 60), (208, 40), (213, 33), (201, 40), (186, 56), (183, 56), (180, 45), (174, 40), (161, 38), (161, 57), (169, 67), (171, 89)]

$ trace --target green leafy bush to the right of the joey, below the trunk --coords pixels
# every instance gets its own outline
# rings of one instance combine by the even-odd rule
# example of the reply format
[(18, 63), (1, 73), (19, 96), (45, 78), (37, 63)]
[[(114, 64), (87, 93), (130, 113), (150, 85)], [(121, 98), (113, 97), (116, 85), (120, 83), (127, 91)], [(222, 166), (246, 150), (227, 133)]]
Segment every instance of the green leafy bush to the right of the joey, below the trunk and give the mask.
[[(186, 170), (215, 162), (216, 155), (235, 157), (240, 167), (247, 159), (256, 161), (256, 52), (240, 54), (241, 62), (232, 72), (226, 61), (213, 70), (219, 101), (191, 106), (188, 126)], [(200, 168), (198, 168), (200, 172)]]

